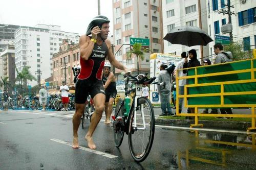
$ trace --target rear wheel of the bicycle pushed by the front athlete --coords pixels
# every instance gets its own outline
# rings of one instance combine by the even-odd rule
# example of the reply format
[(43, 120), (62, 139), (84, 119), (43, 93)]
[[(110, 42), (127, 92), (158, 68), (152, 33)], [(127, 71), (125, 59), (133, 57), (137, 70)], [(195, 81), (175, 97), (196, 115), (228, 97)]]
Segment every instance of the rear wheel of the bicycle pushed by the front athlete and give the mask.
[[(116, 104), (115, 118), (117, 118), (118, 116), (123, 117), (124, 115), (124, 105), (122, 104), (122, 102), (123, 100), (120, 98)], [(116, 132), (113, 126), (113, 132), (114, 132), (115, 145), (116, 147), (120, 147), (123, 141), (124, 129), (120, 128), (119, 131)]]

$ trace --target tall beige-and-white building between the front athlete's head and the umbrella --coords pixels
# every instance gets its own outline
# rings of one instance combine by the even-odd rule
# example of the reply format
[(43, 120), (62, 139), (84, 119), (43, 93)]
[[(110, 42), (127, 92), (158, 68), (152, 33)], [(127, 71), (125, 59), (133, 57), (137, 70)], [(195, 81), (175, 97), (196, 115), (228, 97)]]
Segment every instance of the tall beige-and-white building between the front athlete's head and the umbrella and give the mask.
[[(113, 0), (114, 52), (117, 52), (115, 58), (119, 62), (137, 71), (137, 58), (126, 59), (125, 54), (130, 50), (130, 45), (123, 45), (130, 44), (131, 37), (150, 39), (150, 50), (154, 53), (163, 52), (161, 15), (160, 0)], [(140, 72), (150, 70), (149, 60), (149, 53), (145, 54), (143, 61), (139, 60)], [(116, 74), (120, 72), (116, 69)]]

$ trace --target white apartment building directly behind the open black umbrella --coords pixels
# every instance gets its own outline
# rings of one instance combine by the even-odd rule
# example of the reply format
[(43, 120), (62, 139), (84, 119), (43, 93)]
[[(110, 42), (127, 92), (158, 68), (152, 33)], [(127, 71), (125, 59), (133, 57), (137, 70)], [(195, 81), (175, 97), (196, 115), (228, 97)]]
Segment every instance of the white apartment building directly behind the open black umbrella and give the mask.
[[(201, 18), (199, 18), (200, 14)], [(199, 6), (198, 0), (163, 0), (162, 17), (163, 37), (173, 28), (178, 26), (199, 27), (207, 33), (207, 25), (205, 24), (207, 22), (205, 1), (200, 1)], [(180, 55), (182, 52), (186, 52), (191, 49), (195, 49), (197, 51), (198, 60), (200, 60), (201, 57), (209, 55), (208, 45), (203, 46), (203, 50), (201, 50), (200, 46), (187, 47), (185, 45), (171, 44), (164, 40), (164, 53)]]

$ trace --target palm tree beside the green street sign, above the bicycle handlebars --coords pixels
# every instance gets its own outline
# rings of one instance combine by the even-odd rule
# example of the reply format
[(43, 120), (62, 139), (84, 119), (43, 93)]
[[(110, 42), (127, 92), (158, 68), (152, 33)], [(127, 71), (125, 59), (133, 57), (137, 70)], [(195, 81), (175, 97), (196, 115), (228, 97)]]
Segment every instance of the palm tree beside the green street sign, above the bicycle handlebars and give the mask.
[(138, 71), (138, 75), (139, 75), (139, 58), (140, 60), (144, 60), (144, 53), (148, 53), (150, 52), (149, 49), (142, 49), (142, 44), (141, 43), (134, 43), (133, 45), (133, 49), (131, 51), (126, 52), (126, 58), (127, 59), (131, 59), (132, 58), (132, 54), (135, 54), (137, 57), (137, 71)]

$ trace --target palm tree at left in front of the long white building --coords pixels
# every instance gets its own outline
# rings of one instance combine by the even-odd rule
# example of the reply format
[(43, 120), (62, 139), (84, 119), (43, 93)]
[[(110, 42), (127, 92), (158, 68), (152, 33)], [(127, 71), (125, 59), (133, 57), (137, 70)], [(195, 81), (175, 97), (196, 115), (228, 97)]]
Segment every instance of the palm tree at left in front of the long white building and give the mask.
[[(15, 69), (16, 69), (16, 72), (17, 72), (16, 80), (20, 82), (21, 86), (22, 86), (22, 83), (26, 83), (28, 80), (30, 80), (30, 81), (35, 80), (36, 81), (36, 78), (29, 71), (30, 66), (23, 67), (22, 71), (20, 71), (20, 72), (18, 71), (15, 64), (14, 64), (14, 66), (15, 66)], [(21, 93), (23, 95), (23, 91)]]

